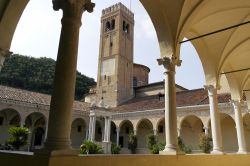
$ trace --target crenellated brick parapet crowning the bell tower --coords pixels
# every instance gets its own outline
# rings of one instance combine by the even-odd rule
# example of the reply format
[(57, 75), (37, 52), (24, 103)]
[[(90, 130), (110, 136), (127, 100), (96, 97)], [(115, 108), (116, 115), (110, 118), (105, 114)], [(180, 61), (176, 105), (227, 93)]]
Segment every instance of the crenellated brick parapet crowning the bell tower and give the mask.
[(134, 13), (131, 10), (129, 10), (125, 5), (123, 5), (121, 2), (119, 2), (115, 5), (112, 5), (106, 9), (103, 9), (102, 16), (107, 15), (107, 14), (114, 12), (114, 11), (118, 11), (118, 10), (122, 10), (123, 12), (127, 13), (129, 16), (134, 17)]

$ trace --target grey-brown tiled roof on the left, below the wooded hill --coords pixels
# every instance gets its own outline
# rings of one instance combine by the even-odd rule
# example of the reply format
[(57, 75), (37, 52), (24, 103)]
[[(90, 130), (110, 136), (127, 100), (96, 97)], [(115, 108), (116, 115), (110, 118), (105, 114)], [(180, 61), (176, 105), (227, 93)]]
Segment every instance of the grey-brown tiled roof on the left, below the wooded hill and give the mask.
[[(0, 85), (0, 99), (15, 100), (31, 104), (50, 105), (50, 95)], [(90, 104), (74, 101), (75, 110), (88, 110)]]

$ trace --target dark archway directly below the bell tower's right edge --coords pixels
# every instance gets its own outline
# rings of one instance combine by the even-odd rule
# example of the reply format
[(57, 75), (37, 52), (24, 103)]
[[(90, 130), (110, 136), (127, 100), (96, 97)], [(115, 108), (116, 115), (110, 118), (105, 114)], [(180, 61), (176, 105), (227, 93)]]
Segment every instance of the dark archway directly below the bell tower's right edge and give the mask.
[(128, 135), (134, 132), (133, 124), (129, 120), (124, 120), (120, 123), (120, 136), (119, 144), (123, 148), (123, 153), (129, 153), (128, 151)]

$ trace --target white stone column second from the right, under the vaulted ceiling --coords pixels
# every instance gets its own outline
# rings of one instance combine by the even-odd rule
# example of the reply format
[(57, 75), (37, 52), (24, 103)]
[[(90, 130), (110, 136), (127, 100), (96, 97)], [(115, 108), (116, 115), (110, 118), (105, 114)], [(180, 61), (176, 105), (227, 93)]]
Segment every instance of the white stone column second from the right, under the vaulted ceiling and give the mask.
[(208, 90), (211, 132), (213, 138), (213, 154), (223, 154), (220, 113), (218, 111), (217, 89), (213, 85), (204, 86)]

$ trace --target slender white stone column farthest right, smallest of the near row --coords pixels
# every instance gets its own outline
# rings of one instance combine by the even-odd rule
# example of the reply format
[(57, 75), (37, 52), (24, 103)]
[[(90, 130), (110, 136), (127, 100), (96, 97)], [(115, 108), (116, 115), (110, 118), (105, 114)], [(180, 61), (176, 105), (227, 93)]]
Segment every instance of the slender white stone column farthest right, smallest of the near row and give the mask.
[(243, 120), (241, 114), (241, 101), (231, 100), (231, 103), (234, 108), (235, 115), (235, 125), (237, 132), (237, 140), (238, 140), (238, 153), (239, 154), (247, 154), (246, 140), (244, 134)]

